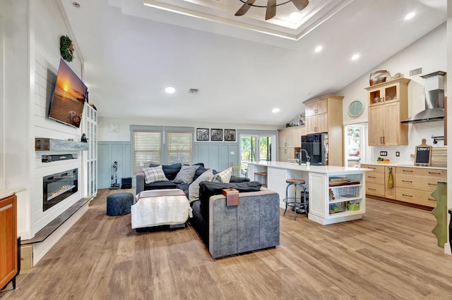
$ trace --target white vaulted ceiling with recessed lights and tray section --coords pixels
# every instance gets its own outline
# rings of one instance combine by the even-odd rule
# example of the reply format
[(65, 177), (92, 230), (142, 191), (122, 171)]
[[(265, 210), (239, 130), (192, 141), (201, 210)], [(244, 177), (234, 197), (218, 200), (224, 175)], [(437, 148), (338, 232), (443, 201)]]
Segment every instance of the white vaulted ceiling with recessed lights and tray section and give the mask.
[(298, 11), (277, 0), (265, 20), (265, 7), (234, 15), (246, 0), (77, 1), (61, 3), (100, 116), (267, 125), (287, 123), (302, 101), (335, 93), (444, 23), (447, 3), (309, 0)]

